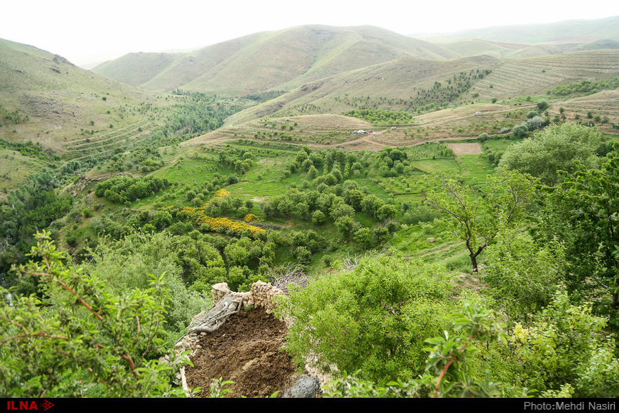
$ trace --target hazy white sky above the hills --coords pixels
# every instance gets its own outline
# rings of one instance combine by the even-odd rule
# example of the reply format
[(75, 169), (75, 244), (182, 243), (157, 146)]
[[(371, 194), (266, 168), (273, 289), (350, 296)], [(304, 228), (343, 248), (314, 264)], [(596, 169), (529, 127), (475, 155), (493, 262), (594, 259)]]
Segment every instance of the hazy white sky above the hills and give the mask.
[(406, 35), (599, 19), (618, 15), (619, 1), (14, 0), (4, 1), (1, 11), (1, 39), (85, 65), (129, 52), (195, 50), (305, 24), (376, 25)]

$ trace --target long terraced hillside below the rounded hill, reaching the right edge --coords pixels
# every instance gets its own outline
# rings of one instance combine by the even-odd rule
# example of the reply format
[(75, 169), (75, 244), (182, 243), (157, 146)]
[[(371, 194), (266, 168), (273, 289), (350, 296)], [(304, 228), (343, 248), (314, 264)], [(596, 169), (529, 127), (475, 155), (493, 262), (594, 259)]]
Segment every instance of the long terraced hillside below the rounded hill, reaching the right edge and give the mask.
[[(479, 76), (484, 71), (490, 73)], [(430, 61), (406, 57), (308, 83), (231, 116), (226, 125), (269, 115), (337, 114), (363, 108), (414, 112), (426, 105), (445, 102), (453, 105), (469, 100), (509, 100), (543, 95), (558, 85), (608, 80), (618, 73), (618, 50), (530, 59), (495, 59), (482, 55)], [(453, 84), (448, 83), (451, 81)]]

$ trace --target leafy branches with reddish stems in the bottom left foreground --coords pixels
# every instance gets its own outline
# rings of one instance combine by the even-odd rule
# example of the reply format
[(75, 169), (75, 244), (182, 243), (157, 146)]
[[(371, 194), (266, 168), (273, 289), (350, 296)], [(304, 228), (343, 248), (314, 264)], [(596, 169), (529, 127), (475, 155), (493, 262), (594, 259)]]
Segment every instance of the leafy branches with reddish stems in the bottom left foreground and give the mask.
[[(51, 303), (34, 295), (0, 303), (0, 388), (7, 396), (43, 397), (67, 371), (86, 370), (91, 383), (103, 384), (110, 396), (184, 396), (172, 388), (173, 368), (188, 362), (175, 357), (169, 365), (146, 360), (161, 354), (162, 327), (169, 290), (161, 277), (151, 288), (114, 295), (83, 268), (63, 265), (50, 234), (37, 233), (30, 261), (13, 268), (18, 275), (39, 277)], [(0, 287), (0, 295), (10, 291)], [(52, 305), (50, 305), (52, 304)], [(76, 386), (69, 390), (78, 395)]]

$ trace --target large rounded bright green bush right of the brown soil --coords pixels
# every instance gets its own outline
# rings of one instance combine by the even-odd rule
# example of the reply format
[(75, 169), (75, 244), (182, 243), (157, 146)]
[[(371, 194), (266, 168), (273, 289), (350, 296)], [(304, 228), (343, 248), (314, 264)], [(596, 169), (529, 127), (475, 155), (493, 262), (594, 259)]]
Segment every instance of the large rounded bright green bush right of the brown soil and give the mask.
[(274, 311), (294, 319), (285, 348), (300, 365), (317, 354), (318, 366), (387, 382), (424, 371), (424, 340), (449, 329), (452, 290), (441, 266), (382, 255), (291, 290)]

